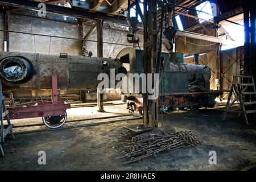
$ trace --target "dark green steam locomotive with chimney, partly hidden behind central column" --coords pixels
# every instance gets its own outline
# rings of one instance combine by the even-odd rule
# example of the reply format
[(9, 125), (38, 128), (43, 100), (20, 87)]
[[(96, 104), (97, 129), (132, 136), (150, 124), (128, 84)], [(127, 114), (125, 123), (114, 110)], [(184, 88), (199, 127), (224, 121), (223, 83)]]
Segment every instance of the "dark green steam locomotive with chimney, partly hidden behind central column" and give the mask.
[[(119, 52), (117, 59), (122, 61), (128, 73), (143, 73), (143, 51), (125, 48)], [(160, 110), (170, 113), (176, 109), (199, 109), (200, 107), (215, 106), (216, 97), (223, 92), (210, 90), (210, 68), (199, 64), (199, 56), (195, 64), (185, 63), (183, 53), (162, 53), (162, 60), (162, 72), (159, 73)], [(129, 82), (127, 84), (127, 88), (129, 88)], [(141, 84), (142, 80), (140, 80)], [(122, 98), (129, 101), (127, 109), (142, 113), (141, 90), (140, 93), (134, 93), (135, 90), (132, 93), (123, 92)]]

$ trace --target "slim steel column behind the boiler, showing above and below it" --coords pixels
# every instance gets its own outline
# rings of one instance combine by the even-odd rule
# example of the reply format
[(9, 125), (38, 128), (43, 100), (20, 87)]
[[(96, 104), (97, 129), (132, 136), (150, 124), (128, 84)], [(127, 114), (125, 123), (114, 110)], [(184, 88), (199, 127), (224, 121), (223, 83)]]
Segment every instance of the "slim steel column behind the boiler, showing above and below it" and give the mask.
[[(97, 20), (97, 52), (98, 57), (103, 57), (103, 20)], [(104, 94), (100, 93), (100, 89), (97, 90), (97, 106), (98, 112), (104, 112)]]

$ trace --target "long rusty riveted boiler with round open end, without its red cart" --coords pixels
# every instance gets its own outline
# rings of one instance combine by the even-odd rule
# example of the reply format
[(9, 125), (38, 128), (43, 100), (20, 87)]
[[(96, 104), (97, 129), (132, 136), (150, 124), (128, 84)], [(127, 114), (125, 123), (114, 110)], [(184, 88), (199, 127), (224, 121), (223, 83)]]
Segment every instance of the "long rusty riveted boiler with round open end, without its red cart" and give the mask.
[[(72, 55), (40, 55), (36, 53), (0, 52), (0, 77), (3, 89), (51, 89), (52, 75), (60, 89), (97, 89), (100, 73), (110, 78), (125, 73), (118, 59)], [(114, 78), (112, 78), (114, 79)]]

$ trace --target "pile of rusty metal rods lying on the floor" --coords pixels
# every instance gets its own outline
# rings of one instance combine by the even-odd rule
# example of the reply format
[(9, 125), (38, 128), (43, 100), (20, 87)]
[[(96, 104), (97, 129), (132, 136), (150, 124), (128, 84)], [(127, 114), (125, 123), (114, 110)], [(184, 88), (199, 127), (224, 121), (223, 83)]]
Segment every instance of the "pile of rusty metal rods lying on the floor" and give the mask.
[(140, 163), (150, 156), (156, 157), (159, 152), (189, 146), (196, 147), (200, 144), (203, 144), (203, 140), (192, 131), (180, 131), (172, 134), (137, 135), (131, 139), (131, 142), (119, 143), (115, 148), (126, 153), (121, 158), (129, 158), (130, 161), (124, 163), (129, 164)]

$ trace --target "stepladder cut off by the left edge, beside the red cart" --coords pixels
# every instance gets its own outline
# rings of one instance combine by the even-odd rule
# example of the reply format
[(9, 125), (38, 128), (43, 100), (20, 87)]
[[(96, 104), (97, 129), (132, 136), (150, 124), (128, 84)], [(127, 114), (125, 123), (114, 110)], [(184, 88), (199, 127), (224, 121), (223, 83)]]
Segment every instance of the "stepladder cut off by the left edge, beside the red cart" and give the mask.
[[(11, 125), (10, 118), (9, 118), (9, 111), (6, 109), (5, 105), (5, 97), (2, 93), (2, 81), (0, 80), (0, 156), (4, 156), (5, 153), (3, 152), (2, 144), (5, 143), (5, 137), (8, 134), (11, 134), (11, 137), (14, 139), (13, 134), (13, 125)], [(3, 119), (6, 119), (7, 125), (3, 124)]]

